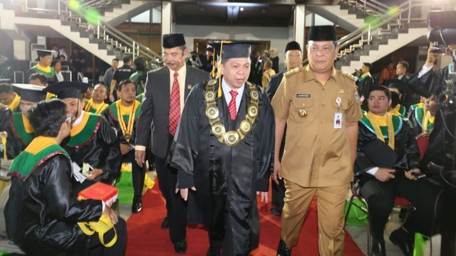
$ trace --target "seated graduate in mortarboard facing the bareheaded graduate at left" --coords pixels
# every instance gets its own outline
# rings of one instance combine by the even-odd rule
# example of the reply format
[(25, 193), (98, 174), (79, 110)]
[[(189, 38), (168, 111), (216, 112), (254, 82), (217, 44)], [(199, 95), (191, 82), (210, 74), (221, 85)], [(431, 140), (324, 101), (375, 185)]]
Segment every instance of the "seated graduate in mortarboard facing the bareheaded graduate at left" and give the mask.
[(112, 185), (120, 175), (120, 146), (115, 131), (99, 114), (83, 111), (83, 93), (88, 84), (83, 82), (56, 82), (44, 89), (66, 103), (66, 114), (71, 116), (70, 136), (62, 145), (71, 160), (81, 169), (88, 168), (83, 183), (76, 183), (75, 191), (81, 191), (95, 181)]

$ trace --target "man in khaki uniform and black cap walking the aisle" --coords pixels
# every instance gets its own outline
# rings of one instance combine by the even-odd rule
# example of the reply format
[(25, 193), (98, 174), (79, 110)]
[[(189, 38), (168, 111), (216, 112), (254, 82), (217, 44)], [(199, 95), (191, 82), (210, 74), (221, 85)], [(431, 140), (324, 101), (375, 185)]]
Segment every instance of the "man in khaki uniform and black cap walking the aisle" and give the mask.
[(291, 255), (315, 194), (320, 255), (343, 255), (343, 207), (353, 181), (361, 107), (353, 78), (333, 68), (336, 40), (333, 26), (311, 27), (309, 65), (286, 73), (271, 102), (276, 120), (273, 178), (283, 177), (286, 188), (278, 255)]

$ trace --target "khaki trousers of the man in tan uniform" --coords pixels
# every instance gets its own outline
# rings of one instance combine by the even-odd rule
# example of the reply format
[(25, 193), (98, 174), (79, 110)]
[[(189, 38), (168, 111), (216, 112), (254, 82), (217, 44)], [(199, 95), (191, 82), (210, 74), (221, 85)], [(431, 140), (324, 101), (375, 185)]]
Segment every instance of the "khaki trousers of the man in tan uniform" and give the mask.
[(343, 255), (345, 237), (343, 208), (348, 196), (349, 184), (304, 188), (291, 181), (284, 181), (286, 192), (281, 216), (281, 239), (290, 248), (298, 243), (304, 218), (316, 194), (320, 255)]

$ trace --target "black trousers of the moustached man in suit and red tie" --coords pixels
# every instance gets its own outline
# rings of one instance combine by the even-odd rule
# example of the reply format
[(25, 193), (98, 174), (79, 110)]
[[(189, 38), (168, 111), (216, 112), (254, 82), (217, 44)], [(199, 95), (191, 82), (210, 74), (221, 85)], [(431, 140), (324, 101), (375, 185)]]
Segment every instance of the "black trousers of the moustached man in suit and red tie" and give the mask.
[[(170, 142), (172, 143), (172, 135)], [(169, 149), (168, 149), (169, 151)], [(166, 158), (155, 156), (155, 168), (157, 169), (158, 186), (166, 201), (167, 217), (170, 222), (171, 242), (176, 243), (185, 239), (187, 235), (187, 202), (175, 193), (177, 184), (177, 170), (167, 164)]]

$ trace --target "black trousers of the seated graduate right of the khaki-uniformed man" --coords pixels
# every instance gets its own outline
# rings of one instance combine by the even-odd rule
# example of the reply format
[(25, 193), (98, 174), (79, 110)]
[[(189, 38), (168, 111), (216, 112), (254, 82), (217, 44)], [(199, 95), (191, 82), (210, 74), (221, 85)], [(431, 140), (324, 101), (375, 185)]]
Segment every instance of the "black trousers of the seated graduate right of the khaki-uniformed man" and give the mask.
[(398, 175), (390, 181), (382, 182), (375, 176), (363, 174), (360, 184), (361, 195), (368, 202), (371, 234), (375, 240), (383, 240), (383, 229), (393, 209), (395, 196), (406, 198), (416, 208), (403, 227), (410, 234), (419, 232), (432, 235), (435, 216), (440, 215), (440, 204), (436, 206), (440, 188), (423, 179), (411, 181)]

